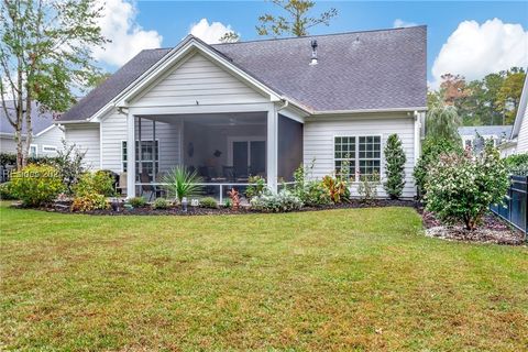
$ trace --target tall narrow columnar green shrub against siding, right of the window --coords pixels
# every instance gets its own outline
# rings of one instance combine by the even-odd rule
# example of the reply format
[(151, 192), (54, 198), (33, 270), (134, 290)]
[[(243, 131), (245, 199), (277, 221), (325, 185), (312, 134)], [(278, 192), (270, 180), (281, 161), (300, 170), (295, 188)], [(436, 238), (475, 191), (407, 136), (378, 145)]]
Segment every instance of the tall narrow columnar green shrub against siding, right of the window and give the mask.
[(383, 184), (391, 199), (398, 199), (405, 186), (405, 151), (397, 134), (391, 134), (385, 145), (385, 176)]

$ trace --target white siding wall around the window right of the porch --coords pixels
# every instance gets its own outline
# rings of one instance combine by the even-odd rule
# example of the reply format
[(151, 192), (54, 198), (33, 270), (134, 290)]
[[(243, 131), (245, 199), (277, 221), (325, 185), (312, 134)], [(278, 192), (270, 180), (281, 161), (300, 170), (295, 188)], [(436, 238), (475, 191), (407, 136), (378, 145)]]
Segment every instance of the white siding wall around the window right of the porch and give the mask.
[[(305, 123), (304, 130), (304, 163), (309, 165), (315, 160), (312, 176), (321, 178), (334, 170), (334, 136), (348, 135), (382, 135), (382, 177), (385, 176), (383, 148), (388, 135), (396, 133), (402, 140), (407, 163), (405, 165), (406, 184), (404, 197), (414, 197), (415, 183), (413, 168), (415, 165), (415, 120), (406, 114), (394, 113), (393, 116), (362, 116), (349, 118), (320, 117)], [(417, 134), (418, 135), (418, 134)], [(419, 144), (418, 144), (419, 145)], [(356, 185), (352, 186), (352, 194), (356, 195)], [(385, 196), (383, 187), (378, 189), (378, 196)]]

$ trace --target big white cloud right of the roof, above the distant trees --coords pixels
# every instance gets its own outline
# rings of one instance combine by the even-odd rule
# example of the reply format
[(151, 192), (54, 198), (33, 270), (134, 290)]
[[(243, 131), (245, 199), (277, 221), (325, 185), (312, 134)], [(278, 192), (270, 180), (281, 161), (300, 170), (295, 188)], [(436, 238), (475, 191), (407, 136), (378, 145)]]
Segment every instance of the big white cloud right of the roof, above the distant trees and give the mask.
[(432, 65), (433, 87), (440, 76), (459, 74), (479, 79), (512, 66), (528, 65), (528, 31), (520, 24), (493, 19), (479, 24), (461, 22), (443, 44)]

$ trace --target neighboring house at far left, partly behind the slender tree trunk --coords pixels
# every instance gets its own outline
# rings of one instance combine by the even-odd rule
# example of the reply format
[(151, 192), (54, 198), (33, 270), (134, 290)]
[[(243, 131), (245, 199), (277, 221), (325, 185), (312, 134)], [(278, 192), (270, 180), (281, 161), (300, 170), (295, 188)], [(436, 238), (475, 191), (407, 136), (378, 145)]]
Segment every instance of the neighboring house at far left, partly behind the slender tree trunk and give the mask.
[[(13, 111), (13, 102), (8, 101), (8, 110)], [(13, 111), (14, 112), (14, 111)], [(54, 156), (57, 150), (62, 147), (64, 139), (63, 130), (55, 124), (51, 112), (41, 112), (36, 103), (32, 105), (31, 127), (33, 139), (30, 146), (31, 156)], [(25, 139), (25, 123), (22, 127), (22, 138)], [(14, 141), (14, 128), (6, 117), (3, 108), (0, 107), (0, 152), (16, 153), (16, 142)]]

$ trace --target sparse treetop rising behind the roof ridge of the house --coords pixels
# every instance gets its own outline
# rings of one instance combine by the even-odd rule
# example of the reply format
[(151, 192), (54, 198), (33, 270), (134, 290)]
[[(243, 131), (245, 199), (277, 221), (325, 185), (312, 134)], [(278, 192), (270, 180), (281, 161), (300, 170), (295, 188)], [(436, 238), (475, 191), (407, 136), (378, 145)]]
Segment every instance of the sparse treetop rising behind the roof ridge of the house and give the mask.
[(310, 16), (309, 11), (316, 6), (315, 1), (307, 0), (272, 0), (272, 2), (286, 12), (285, 15), (265, 13), (258, 18), (260, 25), (256, 26), (258, 35), (282, 35), (304, 36), (312, 26), (329, 25), (330, 20), (338, 15), (338, 10), (331, 8), (317, 16)]

